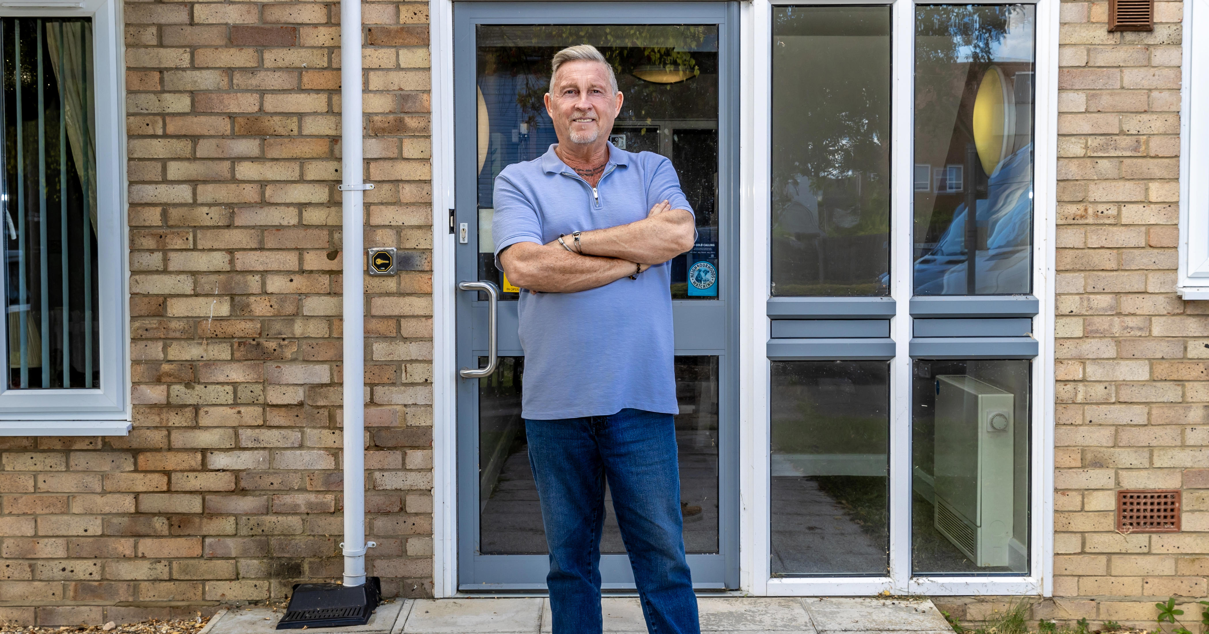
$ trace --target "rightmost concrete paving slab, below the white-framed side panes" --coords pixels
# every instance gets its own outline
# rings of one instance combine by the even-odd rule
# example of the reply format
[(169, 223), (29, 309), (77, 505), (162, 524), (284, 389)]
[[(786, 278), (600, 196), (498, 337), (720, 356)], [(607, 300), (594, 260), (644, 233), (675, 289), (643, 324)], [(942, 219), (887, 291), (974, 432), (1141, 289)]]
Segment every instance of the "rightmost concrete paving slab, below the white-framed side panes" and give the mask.
[(803, 599), (818, 632), (945, 632), (951, 630), (932, 601), (898, 599)]

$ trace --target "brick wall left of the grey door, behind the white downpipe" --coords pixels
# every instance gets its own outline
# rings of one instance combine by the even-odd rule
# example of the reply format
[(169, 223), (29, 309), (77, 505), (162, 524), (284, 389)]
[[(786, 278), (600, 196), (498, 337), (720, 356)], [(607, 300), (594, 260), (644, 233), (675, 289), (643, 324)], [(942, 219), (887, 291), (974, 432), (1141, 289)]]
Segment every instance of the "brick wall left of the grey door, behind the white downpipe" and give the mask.
[[(427, 4), (364, 5), (370, 574), (432, 588)], [(0, 621), (129, 622), (342, 572), (340, 5), (126, 4), (127, 437), (0, 438)]]

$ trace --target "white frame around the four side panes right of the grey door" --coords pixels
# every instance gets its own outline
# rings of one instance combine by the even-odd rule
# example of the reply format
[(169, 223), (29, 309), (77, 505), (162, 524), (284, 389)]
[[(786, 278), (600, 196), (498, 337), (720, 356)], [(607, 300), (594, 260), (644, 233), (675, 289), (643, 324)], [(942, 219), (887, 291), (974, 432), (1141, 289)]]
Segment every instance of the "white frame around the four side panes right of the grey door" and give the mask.
[[(1209, 1), (1209, 0), (1202, 0)], [(745, 249), (741, 268), (746, 273), (740, 347), (740, 366), (745, 370), (740, 384), (740, 495), (745, 501), (740, 519), (740, 570), (744, 589), (757, 595), (1045, 595), (1053, 593), (1053, 271), (1054, 210), (1057, 174), (1057, 64), (1058, 1), (1024, 0), (1036, 5), (1036, 77), (1034, 128), (1034, 278), (1032, 295), (1040, 310), (1032, 319), (1039, 343), (1032, 360), (1031, 394), (1031, 543), (1028, 575), (912, 576), (910, 571), (910, 420), (912, 392), (912, 204), (915, 194), (914, 130), (914, 10), (916, 5), (970, 2), (896, 0), (892, 5), (892, 94), (891, 129), (891, 296), (896, 314), (891, 319), (891, 337), (896, 356), (891, 363), (890, 431), (890, 571), (886, 576), (861, 577), (773, 577), (770, 575), (770, 502), (769, 502), (769, 401), (770, 363), (765, 356), (769, 320), (764, 307), (769, 296), (770, 244), (768, 240), (771, 204), (771, 11), (777, 5), (869, 5), (869, 0), (753, 0), (745, 2), (742, 42), (744, 86), (741, 93), (742, 130), (740, 158), (745, 182), (740, 191), (741, 227)], [(1019, 4), (983, 1), (976, 4)], [(931, 165), (933, 169), (936, 165)], [(935, 184), (930, 184), (933, 185)], [(965, 185), (965, 184), (962, 184)], [(908, 229), (904, 231), (903, 228)], [(991, 316), (991, 315), (988, 315)]]

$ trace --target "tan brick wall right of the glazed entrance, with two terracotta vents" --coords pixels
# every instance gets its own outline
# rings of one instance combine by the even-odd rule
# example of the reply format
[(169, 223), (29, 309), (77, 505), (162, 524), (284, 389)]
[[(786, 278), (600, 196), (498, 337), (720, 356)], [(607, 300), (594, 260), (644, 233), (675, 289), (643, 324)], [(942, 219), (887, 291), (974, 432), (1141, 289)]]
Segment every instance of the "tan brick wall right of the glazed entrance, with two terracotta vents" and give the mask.
[[(1209, 302), (1175, 293), (1184, 6), (1155, 10), (1153, 33), (1107, 33), (1106, 1), (1062, 2), (1054, 600), (1035, 618), (1153, 629), (1155, 603), (1209, 592)], [(1116, 533), (1133, 488), (1184, 489), (1184, 531)], [(977, 622), (1010, 601), (938, 603)]]

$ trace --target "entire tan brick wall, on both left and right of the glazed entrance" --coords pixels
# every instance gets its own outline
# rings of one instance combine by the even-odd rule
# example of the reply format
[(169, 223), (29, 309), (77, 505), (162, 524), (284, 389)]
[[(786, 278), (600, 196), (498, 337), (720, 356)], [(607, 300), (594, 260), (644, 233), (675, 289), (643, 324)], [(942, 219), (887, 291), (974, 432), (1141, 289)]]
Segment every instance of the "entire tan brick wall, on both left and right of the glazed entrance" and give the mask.
[[(1209, 302), (1174, 290), (1180, 2), (1062, 4), (1055, 558), (1032, 616), (1149, 627), (1209, 593)], [(432, 587), (427, 5), (370, 2), (370, 572)], [(339, 4), (126, 7), (134, 431), (0, 438), (0, 621), (133, 621), (336, 578)], [(1182, 488), (1184, 533), (1113, 531)], [(1007, 598), (938, 599), (966, 622)], [(1188, 615), (1194, 615), (1192, 610)], [(1193, 618), (1194, 621), (1194, 618)]]

